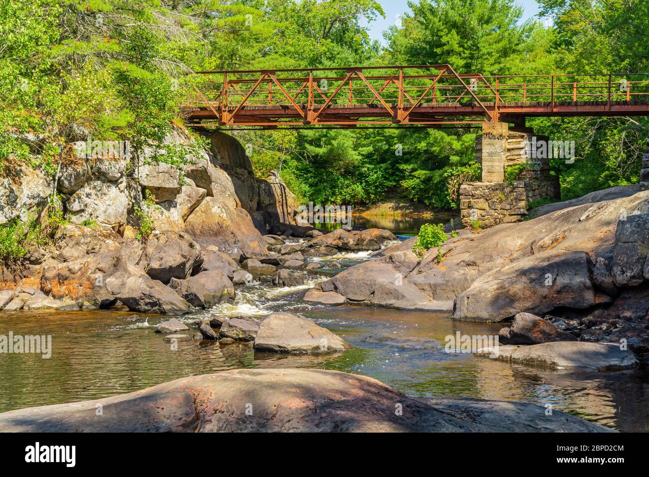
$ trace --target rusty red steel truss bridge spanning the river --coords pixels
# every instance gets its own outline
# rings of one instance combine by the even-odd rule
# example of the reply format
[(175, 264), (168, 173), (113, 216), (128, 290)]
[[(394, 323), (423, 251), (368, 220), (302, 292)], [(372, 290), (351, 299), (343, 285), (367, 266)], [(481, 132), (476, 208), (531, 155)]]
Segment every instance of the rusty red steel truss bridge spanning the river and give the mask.
[(182, 112), (221, 128), (458, 127), (649, 116), (649, 74), (459, 74), (450, 65), (201, 71)]

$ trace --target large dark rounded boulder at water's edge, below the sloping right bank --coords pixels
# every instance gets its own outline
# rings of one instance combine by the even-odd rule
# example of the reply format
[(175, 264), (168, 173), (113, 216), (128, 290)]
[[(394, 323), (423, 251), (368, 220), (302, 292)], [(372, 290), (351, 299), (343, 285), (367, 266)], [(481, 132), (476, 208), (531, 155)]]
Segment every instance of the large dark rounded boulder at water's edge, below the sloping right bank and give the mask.
[(478, 278), (456, 299), (453, 318), (502, 321), (520, 312), (544, 315), (559, 306), (584, 309), (606, 302), (593, 289), (592, 269), (586, 252), (524, 258)]

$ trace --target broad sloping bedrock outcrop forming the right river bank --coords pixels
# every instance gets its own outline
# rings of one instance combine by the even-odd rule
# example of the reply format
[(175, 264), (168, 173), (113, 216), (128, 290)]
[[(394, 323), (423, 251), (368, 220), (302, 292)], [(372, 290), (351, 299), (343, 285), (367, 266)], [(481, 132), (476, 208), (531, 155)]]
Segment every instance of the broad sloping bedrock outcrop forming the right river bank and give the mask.
[[(641, 223), (639, 215), (649, 211), (649, 191), (626, 186), (550, 206), (544, 206), (539, 217), (522, 223), (497, 225), (480, 234), (460, 230), (441, 250), (433, 248), (422, 260), (411, 256), (403, 262), (404, 252), (416, 240), (410, 239), (318, 288), (335, 291), (351, 302), (454, 310), (456, 319), (480, 321), (503, 321), (519, 312), (543, 315), (561, 307), (587, 313), (589, 307), (611, 306), (619, 291), (615, 271), (619, 270), (618, 275), (621, 271), (614, 257), (618, 222), (622, 230)], [(625, 211), (626, 224), (620, 221)], [(618, 243), (635, 247), (634, 256), (644, 266), (644, 245), (634, 234), (621, 236)], [(326, 234), (310, 243), (326, 239), (338, 246), (333, 238)], [(613, 271), (609, 273), (606, 263), (598, 259), (612, 263)], [(633, 276), (637, 282), (637, 265)]]

